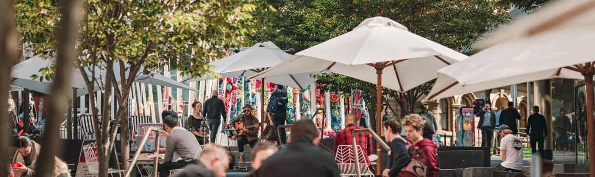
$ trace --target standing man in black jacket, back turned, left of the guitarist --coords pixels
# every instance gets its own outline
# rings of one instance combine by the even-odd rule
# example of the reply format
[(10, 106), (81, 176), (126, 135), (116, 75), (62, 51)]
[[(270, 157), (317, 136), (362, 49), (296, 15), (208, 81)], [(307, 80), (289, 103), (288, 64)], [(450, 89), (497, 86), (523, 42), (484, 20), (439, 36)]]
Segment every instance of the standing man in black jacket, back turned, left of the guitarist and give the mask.
[(205, 101), (205, 105), (202, 108), (202, 117), (206, 118), (206, 123), (209, 125), (209, 129), (211, 129), (211, 136), (209, 137), (211, 142), (215, 142), (215, 138), (217, 138), (219, 126), (221, 125), (221, 117), (223, 117), (223, 125), (227, 125), (225, 104), (223, 100), (219, 99), (218, 95), (219, 92), (213, 90), (212, 97)]

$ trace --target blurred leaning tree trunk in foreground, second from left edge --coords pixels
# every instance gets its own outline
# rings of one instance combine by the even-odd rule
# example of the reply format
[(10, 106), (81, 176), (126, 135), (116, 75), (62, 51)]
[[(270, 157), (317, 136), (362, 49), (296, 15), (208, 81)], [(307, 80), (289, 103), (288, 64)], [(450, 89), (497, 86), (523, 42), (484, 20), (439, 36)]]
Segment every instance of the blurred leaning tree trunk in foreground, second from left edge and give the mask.
[[(60, 117), (67, 107), (70, 92), (70, 71), (73, 61), (77, 58), (76, 41), (80, 17), (80, 1), (58, 1), (61, 13), (61, 26), (58, 30), (58, 59), (55, 68), (52, 94), (49, 96), (48, 117)], [(35, 176), (54, 176), (54, 157), (60, 151), (62, 144), (58, 142), (61, 119), (48, 119), (46, 129), (41, 139), (42, 153), (36, 162)]]

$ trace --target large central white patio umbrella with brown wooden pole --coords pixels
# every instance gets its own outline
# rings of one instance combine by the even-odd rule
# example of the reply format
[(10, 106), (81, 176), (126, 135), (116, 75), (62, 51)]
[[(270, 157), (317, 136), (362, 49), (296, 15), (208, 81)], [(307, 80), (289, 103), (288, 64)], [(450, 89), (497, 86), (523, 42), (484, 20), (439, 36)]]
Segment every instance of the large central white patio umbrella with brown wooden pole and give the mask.
[[(350, 32), (297, 52), (292, 58), (255, 77), (333, 72), (376, 83), (377, 133), (380, 134), (382, 86), (407, 91), (436, 78), (436, 71), (441, 67), (466, 57), (408, 32), (396, 21), (373, 17), (362, 21)], [(387, 79), (389, 82), (383, 85), (382, 80)]]

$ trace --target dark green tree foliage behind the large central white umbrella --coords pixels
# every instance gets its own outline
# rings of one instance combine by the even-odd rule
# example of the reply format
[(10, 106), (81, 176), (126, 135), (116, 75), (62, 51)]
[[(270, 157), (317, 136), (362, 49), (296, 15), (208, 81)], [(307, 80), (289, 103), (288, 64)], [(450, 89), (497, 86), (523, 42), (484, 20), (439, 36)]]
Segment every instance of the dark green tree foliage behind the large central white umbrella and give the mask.
[[(449, 48), (469, 54), (471, 44), (497, 24), (509, 20), (509, 5), (483, 0), (399, 0), (399, 1), (274, 1), (277, 11), (258, 14), (262, 27), (250, 36), (252, 43), (273, 41), (280, 48), (297, 52), (349, 32), (365, 18), (389, 17), (409, 31)], [(361, 89), (369, 105), (375, 104), (375, 85), (337, 74), (316, 76), (325, 89)], [(427, 94), (433, 82), (406, 93), (383, 89), (411, 113), (415, 102)], [(384, 102), (386, 103), (386, 101)], [(409, 105), (405, 107), (405, 105)]]

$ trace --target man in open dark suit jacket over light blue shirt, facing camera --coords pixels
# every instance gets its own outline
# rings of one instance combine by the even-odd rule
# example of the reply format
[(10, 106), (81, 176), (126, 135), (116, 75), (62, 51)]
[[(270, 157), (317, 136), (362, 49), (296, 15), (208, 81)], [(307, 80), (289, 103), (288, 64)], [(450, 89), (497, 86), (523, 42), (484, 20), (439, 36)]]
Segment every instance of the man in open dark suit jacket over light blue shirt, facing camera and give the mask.
[(496, 113), (491, 110), (490, 103), (486, 103), (483, 110), (475, 116), (480, 116), (477, 129), (481, 129), (481, 147), (491, 149), (491, 139), (494, 137), (494, 127), (496, 126)]

